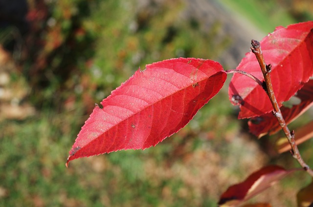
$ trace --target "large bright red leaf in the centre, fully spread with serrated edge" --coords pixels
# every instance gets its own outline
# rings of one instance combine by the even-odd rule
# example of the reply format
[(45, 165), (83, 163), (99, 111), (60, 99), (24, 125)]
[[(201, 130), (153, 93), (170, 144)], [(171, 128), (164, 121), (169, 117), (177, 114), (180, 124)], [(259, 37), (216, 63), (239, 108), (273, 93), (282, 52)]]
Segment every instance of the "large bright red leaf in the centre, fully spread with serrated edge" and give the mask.
[(93, 109), (69, 151), (73, 159), (145, 149), (184, 127), (226, 79), (220, 63), (179, 58), (146, 65)]

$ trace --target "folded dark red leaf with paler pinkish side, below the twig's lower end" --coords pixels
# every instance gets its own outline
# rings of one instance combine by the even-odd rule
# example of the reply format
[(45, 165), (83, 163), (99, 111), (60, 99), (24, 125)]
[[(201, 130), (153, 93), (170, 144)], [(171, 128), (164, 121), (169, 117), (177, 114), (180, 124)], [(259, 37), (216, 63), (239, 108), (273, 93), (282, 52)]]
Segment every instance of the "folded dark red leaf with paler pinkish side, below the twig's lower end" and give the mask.
[(237, 206), (295, 170), (297, 169), (286, 170), (280, 166), (263, 167), (252, 173), (244, 182), (228, 187), (218, 204), (227, 207)]

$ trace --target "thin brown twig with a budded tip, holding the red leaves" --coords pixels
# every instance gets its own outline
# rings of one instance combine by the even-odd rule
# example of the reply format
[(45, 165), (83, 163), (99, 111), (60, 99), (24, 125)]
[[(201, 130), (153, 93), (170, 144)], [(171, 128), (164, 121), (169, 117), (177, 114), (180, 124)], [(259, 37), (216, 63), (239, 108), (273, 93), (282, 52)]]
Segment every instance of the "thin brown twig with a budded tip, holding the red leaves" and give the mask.
[(260, 42), (252, 40), (251, 41), (252, 47), (251, 47), (251, 51), (254, 53), (256, 59), (258, 60), (263, 76), (264, 76), (264, 80), (265, 80), (265, 90), (268, 94), (268, 97), (270, 99), (270, 102), (274, 108), (273, 110), (273, 114), (274, 116), (277, 118), (280, 126), (282, 127), (288, 141), (289, 144), (291, 145), (291, 155), (298, 161), (298, 163), (303, 167), (304, 170), (306, 170), (312, 177), (313, 177), (313, 170), (304, 162), (304, 160), (302, 159), (300, 152), (298, 150), (298, 146), (295, 144), (295, 140), (294, 140), (294, 130), (290, 131), (285, 120), (284, 117), (280, 111), (279, 108), (279, 104), (277, 103), (274, 91), (273, 91), (273, 86), (272, 86), (272, 82), (270, 79), (270, 71), (271, 71), (271, 65), (270, 64), (266, 64), (264, 61), (264, 57), (262, 54), (262, 50), (261, 50), (261, 45)]

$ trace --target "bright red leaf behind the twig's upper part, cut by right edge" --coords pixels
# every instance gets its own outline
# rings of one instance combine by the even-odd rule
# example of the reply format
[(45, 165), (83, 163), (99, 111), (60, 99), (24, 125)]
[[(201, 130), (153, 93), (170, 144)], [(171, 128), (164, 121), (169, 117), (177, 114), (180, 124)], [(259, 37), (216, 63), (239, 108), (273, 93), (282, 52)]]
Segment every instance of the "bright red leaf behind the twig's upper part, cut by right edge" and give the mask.
[[(313, 21), (277, 27), (260, 43), (265, 62), (272, 64), (273, 90), (281, 106), (313, 75)], [(237, 69), (264, 80), (252, 52), (246, 54)], [(243, 75), (234, 74), (228, 93), (232, 104), (240, 104), (239, 119), (261, 116), (272, 110), (265, 91)]]

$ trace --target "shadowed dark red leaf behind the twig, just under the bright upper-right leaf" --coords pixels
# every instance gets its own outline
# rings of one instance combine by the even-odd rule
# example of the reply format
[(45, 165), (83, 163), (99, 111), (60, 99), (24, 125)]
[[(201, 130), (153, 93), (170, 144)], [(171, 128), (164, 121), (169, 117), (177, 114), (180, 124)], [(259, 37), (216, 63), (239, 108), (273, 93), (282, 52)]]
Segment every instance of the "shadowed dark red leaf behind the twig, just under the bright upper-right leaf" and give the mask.
[[(291, 108), (285, 106), (280, 108), (287, 124), (290, 124), (313, 105), (313, 80), (305, 83), (295, 96), (301, 99), (300, 104), (293, 105)], [(276, 117), (271, 112), (260, 117), (251, 118), (248, 125), (250, 132), (257, 137), (262, 137), (267, 133), (271, 135), (281, 129)]]

